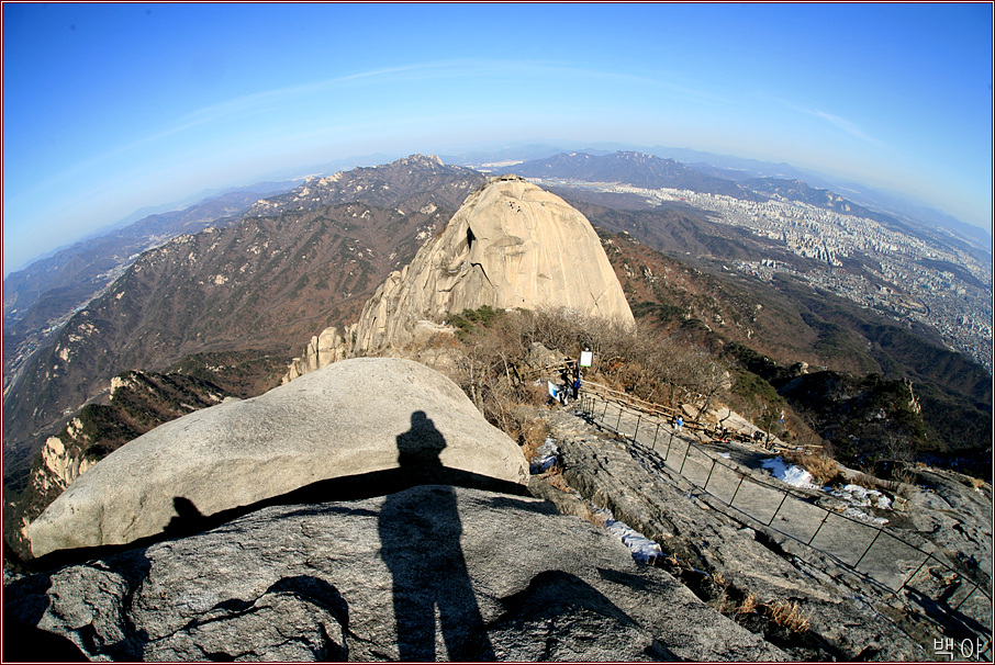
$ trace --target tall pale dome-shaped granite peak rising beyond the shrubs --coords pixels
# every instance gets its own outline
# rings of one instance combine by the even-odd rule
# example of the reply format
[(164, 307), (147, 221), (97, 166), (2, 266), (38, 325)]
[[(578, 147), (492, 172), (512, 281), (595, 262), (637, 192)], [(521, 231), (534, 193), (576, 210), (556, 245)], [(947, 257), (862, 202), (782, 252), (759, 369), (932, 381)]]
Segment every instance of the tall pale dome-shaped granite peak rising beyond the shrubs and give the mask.
[(467, 198), (441, 234), (392, 273), (364, 307), (356, 351), (403, 347), (418, 320), (494, 308), (570, 307), (634, 325), (590, 222), (516, 176)]

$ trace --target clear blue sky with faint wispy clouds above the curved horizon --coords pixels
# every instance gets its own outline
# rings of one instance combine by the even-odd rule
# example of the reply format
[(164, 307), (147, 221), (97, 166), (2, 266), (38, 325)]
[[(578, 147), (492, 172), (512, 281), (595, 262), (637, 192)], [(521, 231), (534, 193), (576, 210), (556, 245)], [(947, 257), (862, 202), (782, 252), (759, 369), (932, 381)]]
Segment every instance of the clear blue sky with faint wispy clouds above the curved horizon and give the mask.
[(992, 225), (992, 5), (3, 4), (3, 268), (351, 155), (619, 142)]

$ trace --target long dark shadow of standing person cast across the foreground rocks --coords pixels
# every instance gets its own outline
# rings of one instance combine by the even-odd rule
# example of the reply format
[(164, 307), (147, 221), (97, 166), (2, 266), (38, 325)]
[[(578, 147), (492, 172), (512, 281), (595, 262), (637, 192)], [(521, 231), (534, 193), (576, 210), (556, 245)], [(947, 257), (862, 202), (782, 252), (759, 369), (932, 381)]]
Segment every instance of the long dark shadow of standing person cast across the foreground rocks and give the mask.
[[(413, 484), (444, 477), (446, 439), (424, 412), (398, 436), (398, 462)], [(393, 576), (394, 620), (401, 661), (436, 660), (436, 625), (450, 661), (493, 661), (494, 652), (460, 545), (462, 526), (451, 486), (413, 487), (388, 496), (380, 511), (383, 561)]]

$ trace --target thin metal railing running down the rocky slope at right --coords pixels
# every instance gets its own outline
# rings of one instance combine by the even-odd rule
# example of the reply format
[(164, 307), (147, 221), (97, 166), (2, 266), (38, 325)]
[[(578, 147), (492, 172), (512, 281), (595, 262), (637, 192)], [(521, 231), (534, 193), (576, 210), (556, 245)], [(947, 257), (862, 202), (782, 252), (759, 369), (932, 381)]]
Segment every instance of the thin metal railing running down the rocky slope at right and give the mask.
[[(957, 570), (938, 559), (937, 553), (927, 552), (875, 525), (818, 506), (812, 503), (808, 495), (795, 494), (752, 477), (720, 461), (723, 458), (709, 454), (690, 438), (674, 436), (669, 425), (633, 405), (613, 404), (611, 399), (591, 392), (582, 392), (580, 405), (592, 420), (648, 449), (668, 470), (677, 472), (720, 504), (821, 552), (860, 578), (887, 589), (893, 596), (907, 589), (909, 594), (928, 596), (954, 612), (974, 597), (975, 602), (984, 604), (984, 607), (979, 607), (972, 615), (991, 619), (991, 591), (982, 588), (966, 571)], [(608, 414), (610, 407), (612, 414)], [(616, 408), (617, 414), (614, 413)], [(629, 415), (624, 419), (625, 412)], [(623, 432), (623, 425), (626, 429), (631, 428), (631, 436)], [(667, 436), (660, 436), (661, 428)], [(651, 441), (648, 432), (652, 432)], [(663, 438), (667, 438), (666, 449)], [(773, 506), (776, 507), (771, 510)], [(815, 521), (818, 526), (813, 529)], [(869, 556), (872, 551), (874, 555)], [(927, 567), (930, 561), (935, 565)], [(924, 568), (927, 574), (921, 574)], [(979, 600), (979, 597), (984, 600)]]

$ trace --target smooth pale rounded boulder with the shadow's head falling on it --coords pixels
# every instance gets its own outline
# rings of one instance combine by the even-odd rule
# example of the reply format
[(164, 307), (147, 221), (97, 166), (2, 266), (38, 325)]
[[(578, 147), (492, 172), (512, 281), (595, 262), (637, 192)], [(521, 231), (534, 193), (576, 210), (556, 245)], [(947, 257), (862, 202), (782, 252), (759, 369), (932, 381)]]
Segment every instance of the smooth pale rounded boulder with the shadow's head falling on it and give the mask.
[(518, 446), (449, 379), (402, 359), (335, 363), (131, 441), (29, 528), (32, 552), (119, 544), (298, 492), (344, 498), (416, 482), (524, 486)]

